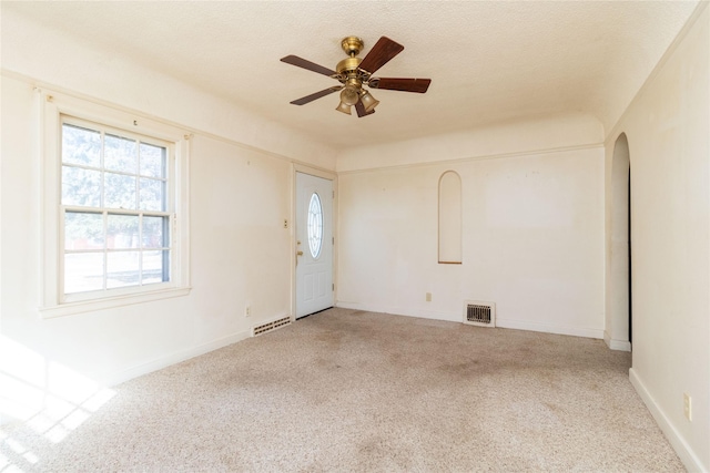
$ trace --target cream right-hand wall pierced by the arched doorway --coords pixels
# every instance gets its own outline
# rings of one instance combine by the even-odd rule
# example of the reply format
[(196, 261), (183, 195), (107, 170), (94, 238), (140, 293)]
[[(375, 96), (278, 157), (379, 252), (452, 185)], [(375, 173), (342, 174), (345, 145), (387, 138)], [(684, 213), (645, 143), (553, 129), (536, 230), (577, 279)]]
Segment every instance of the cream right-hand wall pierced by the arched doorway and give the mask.
[[(710, 471), (710, 9), (633, 100), (606, 143), (626, 133), (631, 161), (631, 381), (690, 471)], [(607, 213), (612, 212), (607, 208)], [(692, 397), (692, 422), (683, 415)]]

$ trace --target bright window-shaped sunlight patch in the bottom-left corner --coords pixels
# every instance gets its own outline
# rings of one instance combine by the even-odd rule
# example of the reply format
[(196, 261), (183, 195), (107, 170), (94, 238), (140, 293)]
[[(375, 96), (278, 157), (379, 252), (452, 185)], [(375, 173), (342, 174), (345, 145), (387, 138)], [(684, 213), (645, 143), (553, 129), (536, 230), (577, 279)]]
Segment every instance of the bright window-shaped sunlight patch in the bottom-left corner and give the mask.
[(12, 436), (24, 424), (60, 443), (115, 395), (95, 381), (0, 336), (0, 471), (34, 469), (41, 460)]

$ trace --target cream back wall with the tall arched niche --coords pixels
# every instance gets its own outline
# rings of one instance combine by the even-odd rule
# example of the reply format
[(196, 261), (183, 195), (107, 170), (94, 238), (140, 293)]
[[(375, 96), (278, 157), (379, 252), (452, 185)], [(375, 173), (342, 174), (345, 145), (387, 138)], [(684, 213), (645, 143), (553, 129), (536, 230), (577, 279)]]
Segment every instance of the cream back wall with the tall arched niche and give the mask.
[[(339, 306), (462, 320), (465, 300), (484, 300), (496, 302), (501, 327), (602, 337), (604, 148), (588, 144), (601, 141), (598, 122), (501, 127), (479, 147), (464, 135), (373, 146), (362, 167), (414, 164), (338, 173)], [(416, 150), (458, 160), (419, 164)], [(341, 155), (338, 168), (358, 155)], [(437, 186), (448, 169), (463, 183), (462, 265), (437, 264)]]

